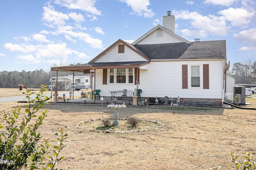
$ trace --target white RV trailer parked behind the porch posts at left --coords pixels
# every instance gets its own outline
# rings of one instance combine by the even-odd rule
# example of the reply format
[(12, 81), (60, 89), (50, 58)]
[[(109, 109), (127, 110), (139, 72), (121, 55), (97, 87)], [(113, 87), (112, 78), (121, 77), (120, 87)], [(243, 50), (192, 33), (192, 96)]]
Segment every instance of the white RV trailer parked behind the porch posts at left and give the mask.
[[(73, 76), (58, 76), (50, 78), (50, 82), (52, 82), (52, 87), (55, 86), (58, 82), (58, 90), (73, 90)], [(80, 89), (88, 89), (90, 88), (90, 76), (74, 76), (74, 90)], [(51, 89), (51, 85), (49, 85), (49, 90)]]

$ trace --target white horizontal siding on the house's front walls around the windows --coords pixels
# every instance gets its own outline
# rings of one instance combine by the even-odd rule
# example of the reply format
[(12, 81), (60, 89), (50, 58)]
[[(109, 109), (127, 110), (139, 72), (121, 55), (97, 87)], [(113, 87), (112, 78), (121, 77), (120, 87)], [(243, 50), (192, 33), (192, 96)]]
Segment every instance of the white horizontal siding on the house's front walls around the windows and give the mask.
[[(164, 96), (177, 98), (180, 96), (180, 98), (220, 99), (224, 91), (222, 72), (224, 63), (224, 60), (206, 60), (200, 61), (200, 63), (198, 61), (151, 61), (148, 64), (148, 70), (140, 69), (139, 89), (142, 89), (141, 95), (149, 98), (156, 96), (158, 98), (164, 98)], [(200, 80), (200, 88), (191, 88), (190, 80), (188, 80), (188, 89), (182, 89), (182, 64), (187, 64), (188, 70), (192, 65), (209, 64), (209, 89), (202, 88), (202, 80)], [(110, 91), (123, 89), (134, 91), (136, 88), (134, 83), (102, 85), (102, 74), (102, 69), (96, 69), (96, 89), (100, 89), (100, 94), (103, 96), (111, 96)], [(188, 77), (190, 75), (188, 72)]]

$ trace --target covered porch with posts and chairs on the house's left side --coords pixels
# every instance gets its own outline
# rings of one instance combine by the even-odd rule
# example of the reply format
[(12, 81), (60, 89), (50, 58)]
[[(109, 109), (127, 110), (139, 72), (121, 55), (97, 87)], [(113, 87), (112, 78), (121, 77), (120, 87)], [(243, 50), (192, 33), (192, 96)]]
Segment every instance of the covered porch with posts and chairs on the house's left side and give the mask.
[[(140, 69), (147, 69), (149, 61), (135, 61), (135, 62), (112, 62), (112, 63), (86, 63), (77, 64), (71, 66), (52, 67), (51, 71), (55, 71), (58, 79), (58, 72), (72, 72), (74, 77), (75, 72), (82, 72), (84, 74), (91, 74), (91, 91), (87, 92), (90, 95), (90, 100), (86, 100), (86, 103), (98, 103), (100, 97), (103, 96), (104, 102), (114, 103), (126, 102), (132, 103), (132, 96), (134, 96), (134, 88), (136, 88), (136, 82), (140, 81)], [(129, 75), (115, 75), (112, 78), (110, 70), (127, 69), (132, 70), (132, 74)], [(126, 78), (126, 82), (120, 82), (122, 78)], [(130, 78), (130, 80), (128, 80)], [(111, 79), (111, 80), (110, 80)], [(74, 82), (73, 82), (74, 83)], [(56, 82), (56, 86), (58, 81)], [(58, 90), (58, 89), (57, 89)], [(72, 94), (74, 94), (74, 89)], [(92, 98), (93, 96), (93, 98)], [(95, 97), (94, 97), (95, 96)], [(138, 96), (138, 94), (136, 94)], [(74, 99), (74, 102), (83, 103), (83, 99)], [(69, 102), (72, 102), (70, 100)], [(141, 100), (141, 99), (139, 99)]]

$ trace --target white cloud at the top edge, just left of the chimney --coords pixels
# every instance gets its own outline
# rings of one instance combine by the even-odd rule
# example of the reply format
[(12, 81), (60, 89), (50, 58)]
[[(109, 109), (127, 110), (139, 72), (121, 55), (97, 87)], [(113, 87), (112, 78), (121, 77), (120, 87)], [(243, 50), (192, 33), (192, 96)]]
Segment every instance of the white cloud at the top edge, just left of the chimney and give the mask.
[(151, 9), (148, 9), (150, 5), (149, 0), (120, 0), (125, 2), (133, 10), (131, 14), (138, 14), (138, 16), (144, 16), (145, 18), (152, 18), (155, 13)]

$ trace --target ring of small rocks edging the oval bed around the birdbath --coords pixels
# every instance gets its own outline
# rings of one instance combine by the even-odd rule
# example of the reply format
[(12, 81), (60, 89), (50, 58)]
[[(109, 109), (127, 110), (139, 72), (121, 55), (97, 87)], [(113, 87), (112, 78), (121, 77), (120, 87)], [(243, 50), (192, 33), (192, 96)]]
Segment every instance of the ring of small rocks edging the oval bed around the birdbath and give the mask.
[[(86, 122), (89, 122), (89, 121), (97, 121), (97, 120), (101, 120), (101, 119), (102, 118), (90, 119), (88, 121), (81, 121), (79, 123), (76, 123), (76, 125), (74, 125), (74, 127), (78, 128), (78, 129), (82, 129), (82, 130), (87, 130), (84, 127), (80, 127), (81, 123), (86, 123)], [(119, 120), (125, 120), (125, 119), (126, 118), (121, 118), (121, 117), (119, 118)], [(155, 127), (152, 130), (158, 130), (158, 129), (164, 127), (164, 124), (162, 124), (159, 121), (147, 120), (147, 119), (146, 120), (138, 119), (138, 121), (148, 121), (148, 122), (156, 123), (156, 124), (159, 125), (159, 126)], [(114, 129), (108, 129), (108, 130), (100, 131), (100, 130), (96, 130), (96, 129), (90, 129), (90, 132), (96, 132), (96, 133), (137, 133), (137, 132), (145, 132), (145, 131), (150, 131), (150, 129), (141, 129), (141, 130), (135, 130), (135, 131), (114, 131)]]

